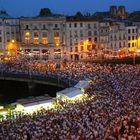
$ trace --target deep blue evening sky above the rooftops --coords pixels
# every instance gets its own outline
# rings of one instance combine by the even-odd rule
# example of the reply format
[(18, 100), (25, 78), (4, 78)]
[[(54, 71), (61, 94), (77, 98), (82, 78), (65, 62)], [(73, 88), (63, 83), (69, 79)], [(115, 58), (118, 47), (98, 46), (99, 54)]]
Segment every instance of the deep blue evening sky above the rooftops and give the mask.
[(140, 0), (0, 0), (0, 9), (13, 17), (36, 16), (41, 8), (50, 8), (53, 13), (73, 15), (108, 11), (110, 5), (124, 5), (128, 12), (140, 10)]

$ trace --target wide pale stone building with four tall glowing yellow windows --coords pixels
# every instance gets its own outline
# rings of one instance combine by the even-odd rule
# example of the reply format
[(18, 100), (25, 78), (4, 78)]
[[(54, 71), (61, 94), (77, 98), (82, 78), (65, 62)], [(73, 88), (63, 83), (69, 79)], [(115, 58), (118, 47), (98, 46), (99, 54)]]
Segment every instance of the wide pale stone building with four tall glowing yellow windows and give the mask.
[(24, 54), (61, 59), (65, 46), (65, 17), (23, 18), (20, 32)]

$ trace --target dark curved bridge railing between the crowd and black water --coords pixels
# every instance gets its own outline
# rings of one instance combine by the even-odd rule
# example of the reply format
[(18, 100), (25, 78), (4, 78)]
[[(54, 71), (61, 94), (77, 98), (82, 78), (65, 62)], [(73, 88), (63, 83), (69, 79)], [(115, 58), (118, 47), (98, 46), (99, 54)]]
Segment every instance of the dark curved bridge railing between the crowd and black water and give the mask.
[(68, 78), (61, 78), (57, 75), (41, 75), (33, 73), (13, 73), (13, 72), (3, 72), (0, 71), (0, 78), (5, 80), (15, 80), (15, 81), (33, 81), (35, 83), (50, 84), (61, 87), (74, 86), (77, 81)]

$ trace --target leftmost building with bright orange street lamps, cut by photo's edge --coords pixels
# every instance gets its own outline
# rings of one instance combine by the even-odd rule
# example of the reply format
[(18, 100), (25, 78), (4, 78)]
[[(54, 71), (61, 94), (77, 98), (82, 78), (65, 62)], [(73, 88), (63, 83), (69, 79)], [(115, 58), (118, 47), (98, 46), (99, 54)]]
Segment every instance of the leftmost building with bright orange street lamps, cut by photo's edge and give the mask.
[(20, 48), (19, 19), (11, 18), (5, 11), (0, 11), (0, 52), (2, 55), (17, 54)]

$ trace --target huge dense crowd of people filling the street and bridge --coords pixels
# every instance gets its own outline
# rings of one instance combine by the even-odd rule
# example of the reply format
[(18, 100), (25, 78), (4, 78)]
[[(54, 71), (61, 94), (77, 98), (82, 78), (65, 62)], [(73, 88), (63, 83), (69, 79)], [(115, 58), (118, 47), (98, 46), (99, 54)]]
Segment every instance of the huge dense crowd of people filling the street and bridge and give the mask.
[(11, 61), (2, 71), (90, 79), (88, 98), (0, 123), (0, 140), (140, 140), (140, 65)]

